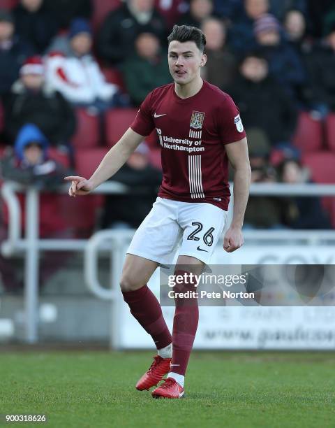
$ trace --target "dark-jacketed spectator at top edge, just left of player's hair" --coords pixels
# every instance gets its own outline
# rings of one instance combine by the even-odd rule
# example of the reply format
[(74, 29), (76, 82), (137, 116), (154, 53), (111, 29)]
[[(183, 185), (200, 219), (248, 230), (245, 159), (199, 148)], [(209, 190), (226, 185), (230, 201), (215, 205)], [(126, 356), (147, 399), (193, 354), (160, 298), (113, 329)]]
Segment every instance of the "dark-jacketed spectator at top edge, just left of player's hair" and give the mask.
[(166, 45), (166, 24), (154, 0), (128, 0), (105, 17), (96, 45), (99, 57), (112, 66), (122, 64), (135, 51), (140, 33), (156, 34)]

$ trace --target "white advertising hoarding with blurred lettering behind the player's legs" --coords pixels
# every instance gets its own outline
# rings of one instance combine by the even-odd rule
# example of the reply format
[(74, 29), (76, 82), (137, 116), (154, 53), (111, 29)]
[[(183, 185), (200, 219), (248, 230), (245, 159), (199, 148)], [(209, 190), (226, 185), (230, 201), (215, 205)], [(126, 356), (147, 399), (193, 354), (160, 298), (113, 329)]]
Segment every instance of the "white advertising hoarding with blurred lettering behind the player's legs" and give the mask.
[[(232, 255), (217, 248), (211, 264), (334, 264), (327, 246), (246, 245)], [(159, 298), (159, 271), (149, 282)], [(164, 307), (172, 331), (173, 307)], [(120, 311), (120, 348), (151, 348), (149, 334), (126, 304)], [(200, 306), (195, 349), (334, 350), (334, 306)]]

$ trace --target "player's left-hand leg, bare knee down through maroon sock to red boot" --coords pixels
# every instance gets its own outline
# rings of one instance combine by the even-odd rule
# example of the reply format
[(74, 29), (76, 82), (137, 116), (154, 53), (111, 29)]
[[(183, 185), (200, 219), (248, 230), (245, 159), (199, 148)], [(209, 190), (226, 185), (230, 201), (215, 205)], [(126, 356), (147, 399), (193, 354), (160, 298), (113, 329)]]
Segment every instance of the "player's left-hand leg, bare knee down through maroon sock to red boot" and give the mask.
[(149, 370), (137, 382), (137, 390), (157, 385), (170, 369), (172, 336), (163, 318), (162, 308), (147, 282), (158, 264), (136, 255), (126, 255), (121, 276), (121, 292), (132, 315), (151, 335), (158, 350)]

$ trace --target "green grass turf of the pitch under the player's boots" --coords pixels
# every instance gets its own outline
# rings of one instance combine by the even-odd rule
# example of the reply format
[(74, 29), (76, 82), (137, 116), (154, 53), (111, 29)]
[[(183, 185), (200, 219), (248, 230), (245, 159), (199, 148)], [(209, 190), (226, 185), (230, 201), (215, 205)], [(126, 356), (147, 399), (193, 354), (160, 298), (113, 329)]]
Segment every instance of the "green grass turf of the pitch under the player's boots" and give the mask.
[(48, 427), (335, 427), (332, 353), (194, 352), (186, 398), (134, 384), (147, 352), (3, 352), (0, 414), (46, 414)]

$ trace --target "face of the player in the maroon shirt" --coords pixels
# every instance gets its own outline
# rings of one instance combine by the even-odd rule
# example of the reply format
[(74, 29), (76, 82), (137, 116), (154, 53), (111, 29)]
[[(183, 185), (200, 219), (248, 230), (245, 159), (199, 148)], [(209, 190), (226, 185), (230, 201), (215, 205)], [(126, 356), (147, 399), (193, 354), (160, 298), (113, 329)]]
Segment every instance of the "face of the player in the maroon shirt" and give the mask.
[(175, 83), (187, 85), (200, 76), (200, 67), (206, 64), (207, 57), (193, 41), (181, 43), (172, 41), (169, 45), (168, 62)]

